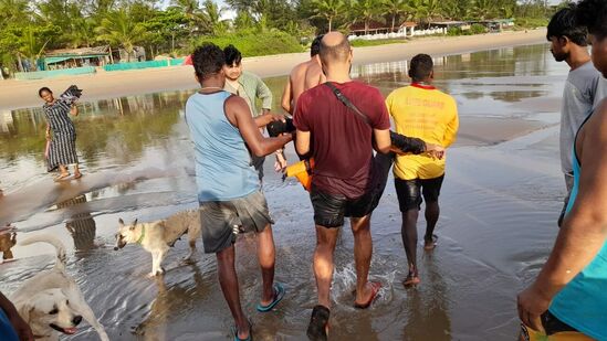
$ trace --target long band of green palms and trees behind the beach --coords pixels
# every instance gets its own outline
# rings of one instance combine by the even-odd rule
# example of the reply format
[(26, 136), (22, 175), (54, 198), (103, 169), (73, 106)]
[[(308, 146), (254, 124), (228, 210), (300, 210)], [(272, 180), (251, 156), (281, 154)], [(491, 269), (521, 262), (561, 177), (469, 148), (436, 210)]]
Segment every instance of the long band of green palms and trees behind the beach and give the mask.
[[(352, 24), (547, 18), (545, 0), (0, 0), (0, 64), (21, 70), (45, 51), (109, 45), (148, 58), (190, 51), (202, 40), (273, 32), (296, 43)], [(224, 20), (224, 11), (236, 18)]]

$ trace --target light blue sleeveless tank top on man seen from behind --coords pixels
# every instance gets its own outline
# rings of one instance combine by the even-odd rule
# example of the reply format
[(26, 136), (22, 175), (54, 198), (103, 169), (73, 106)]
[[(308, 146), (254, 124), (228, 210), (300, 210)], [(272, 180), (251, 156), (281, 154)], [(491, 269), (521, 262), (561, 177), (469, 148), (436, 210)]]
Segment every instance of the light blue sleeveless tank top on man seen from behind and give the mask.
[(186, 103), (186, 122), (195, 145), (198, 201), (229, 201), (260, 189), (259, 175), (240, 131), (226, 117), (231, 94), (196, 93)]

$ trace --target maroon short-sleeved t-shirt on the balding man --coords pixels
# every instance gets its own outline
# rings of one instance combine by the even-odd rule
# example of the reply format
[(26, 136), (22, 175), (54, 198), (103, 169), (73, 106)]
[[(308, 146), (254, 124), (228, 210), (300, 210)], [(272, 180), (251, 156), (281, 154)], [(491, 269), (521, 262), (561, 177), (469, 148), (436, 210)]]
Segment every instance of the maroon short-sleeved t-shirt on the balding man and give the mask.
[[(390, 128), (388, 109), (377, 88), (356, 81), (333, 84), (369, 118), (373, 128)], [(365, 194), (373, 172), (373, 129), (356, 113), (321, 84), (297, 99), (293, 124), (311, 132), (314, 187), (348, 199)]]

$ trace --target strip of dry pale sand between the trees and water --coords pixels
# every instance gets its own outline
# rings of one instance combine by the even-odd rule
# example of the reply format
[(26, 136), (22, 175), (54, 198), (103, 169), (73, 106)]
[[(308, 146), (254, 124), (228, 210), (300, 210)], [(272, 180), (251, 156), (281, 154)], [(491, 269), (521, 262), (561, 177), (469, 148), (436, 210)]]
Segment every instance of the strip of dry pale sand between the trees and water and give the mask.
[[(511, 31), (462, 36), (429, 36), (402, 44), (386, 44), (354, 49), (354, 64), (394, 62), (410, 58), (418, 53), (433, 57), (474, 51), (528, 45), (545, 42), (545, 29)], [(261, 77), (287, 75), (293, 66), (308, 58), (310, 54), (291, 53), (243, 60), (247, 71)], [(143, 95), (149, 93), (192, 89), (198, 86), (193, 70), (189, 66), (168, 66), (122, 72), (98, 72), (94, 75), (76, 75), (35, 81), (0, 81), (0, 110), (14, 110), (41, 106), (38, 89), (48, 86), (61, 93), (72, 84), (84, 89), (81, 100)]]

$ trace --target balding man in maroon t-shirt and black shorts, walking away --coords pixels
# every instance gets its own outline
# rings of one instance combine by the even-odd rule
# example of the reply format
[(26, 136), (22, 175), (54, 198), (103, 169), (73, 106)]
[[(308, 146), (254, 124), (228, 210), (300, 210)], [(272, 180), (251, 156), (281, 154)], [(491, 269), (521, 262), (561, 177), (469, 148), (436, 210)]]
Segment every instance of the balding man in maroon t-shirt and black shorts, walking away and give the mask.
[(381, 153), (390, 150), (390, 120), (384, 97), (377, 88), (350, 79), (353, 53), (348, 40), (338, 32), (325, 34), (320, 56), (327, 83), (348, 97), (370, 122), (367, 125), (350, 113), (325, 85), (304, 92), (296, 103), (295, 147), (299, 154), (311, 153), (316, 164), (310, 193), (317, 241), (314, 276), (318, 296), (307, 328), (312, 340), (327, 338), (333, 254), (345, 216), (350, 217), (354, 234), (354, 306), (368, 308), (381, 287), (379, 281), (368, 280), (373, 254), (370, 213), (380, 196), (373, 187), (373, 149)]

